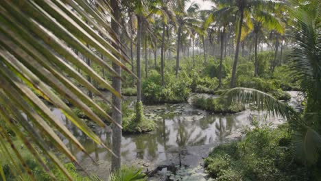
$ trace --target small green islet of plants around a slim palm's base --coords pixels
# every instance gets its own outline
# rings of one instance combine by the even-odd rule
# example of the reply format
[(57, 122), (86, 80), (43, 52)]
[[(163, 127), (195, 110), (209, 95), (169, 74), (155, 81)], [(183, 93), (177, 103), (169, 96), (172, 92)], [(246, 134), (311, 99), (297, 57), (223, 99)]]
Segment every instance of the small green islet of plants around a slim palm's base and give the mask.
[(123, 132), (128, 133), (141, 133), (141, 132), (150, 132), (155, 130), (154, 121), (147, 119), (143, 114), (143, 103), (141, 101), (136, 102), (135, 105), (136, 112), (126, 114), (126, 117), (123, 117)]

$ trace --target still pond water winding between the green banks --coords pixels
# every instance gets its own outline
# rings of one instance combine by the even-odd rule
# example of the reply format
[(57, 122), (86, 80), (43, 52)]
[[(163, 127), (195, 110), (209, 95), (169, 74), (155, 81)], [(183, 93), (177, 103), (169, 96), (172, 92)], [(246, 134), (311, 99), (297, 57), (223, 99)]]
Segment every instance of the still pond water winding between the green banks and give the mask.
[[(289, 93), (292, 95), (289, 104), (300, 110), (301, 100), (297, 96), (298, 92)], [(121, 139), (121, 160), (123, 164), (140, 165), (149, 171), (158, 165), (178, 165), (180, 162), (191, 168), (202, 166), (202, 158), (209, 154), (211, 148), (239, 138), (242, 135), (241, 131), (251, 126), (252, 117), (266, 115), (266, 112), (250, 110), (237, 114), (211, 114), (194, 108), (189, 103), (144, 108), (145, 116), (155, 121), (156, 130), (145, 134), (124, 134)], [(53, 108), (52, 111), (97, 162), (95, 164), (68, 141), (64, 141), (82, 167), (88, 173), (96, 174), (102, 179), (108, 178), (111, 154), (106, 149), (97, 147), (80, 130), (66, 121), (60, 110)], [(283, 119), (263, 116), (261, 122), (277, 125), (283, 123)], [(95, 132), (106, 145), (110, 145), (110, 130), (95, 128)], [(202, 167), (199, 171), (202, 172)]]

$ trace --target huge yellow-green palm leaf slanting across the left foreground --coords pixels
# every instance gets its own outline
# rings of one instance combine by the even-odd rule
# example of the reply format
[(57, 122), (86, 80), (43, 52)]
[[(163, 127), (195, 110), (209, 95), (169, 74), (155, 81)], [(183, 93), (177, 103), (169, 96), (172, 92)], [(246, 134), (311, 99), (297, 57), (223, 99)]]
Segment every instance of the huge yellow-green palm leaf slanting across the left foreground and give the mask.
[[(71, 8), (75, 7), (75, 3), (81, 8)], [(130, 72), (122, 63), (122, 60), (128, 62), (126, 56), (121, 56), (123, 51), (108, 43), (119, 40), (112, 38), (115, 34), (110, 28), (110, 23), (96, 8), (97, 6), (90, 5), (84, 0), (15, 0), (2, 1), (0, 4), (0, 117), (4, 123), (0, 125), (0, 154), (10, 152), (21, 158), (19, 152), (14, 152), (17, 145), (14, 145), (10, 135), (3, 131), (5, 125), (12, 129), (53, 179), (53, 173), (44, 164), (43, 156), (53, 162), (68, 180), (73, 178), (53, 152), (60, 152), (79, 165), (78, 160), (62, 142), (60, 135), (86, 155), (88, 153), (40, 97), (62, 110), (84, 134), (108, 150), (110, 149), (102, 143), (99, 136), (88, 128), (60, 97), (66, 98), (73, 106), (80, 108), (103, 128), (106, 128), (106, 123), (102, 119), (111, 123), (115, 121), (84, 94), (78, 85), (84, 86), (97, 97), (101, 97), (106, 104), (110, 104), (110, 101), (86, 80), (85, 76), (89, 75), (110, 93), (121, 97), (115, 88), (88, 67), (72, 49), (77, 49), (95, 64), (109, 70), (112, 76), (119, 75), (109, 65), (111, 62)], [(108, 10), (104, 12), (108, 13)], [(95, 14), (95, 16), (84, 16), (84, 14)], [(107, 40), (99, 36), (98, 32)], [(96, 52), (104, 55), (108, 61), (97, 56)], [(76, 67), (85, 75), (78, 73)], [(74, 82), (71, 82), (70, 77)], [(121, 128), (121, 125), (115, 124)], [(48, 149), (49, 143), (54, 149)], [(17, 162), (12, 161), (10, 165), (13, 173), (21, 176), (21, 172), (25, 172), (34, 180), (32, 172), (22, 158)], [(0, 175), (4, 178), (1, 167)]]

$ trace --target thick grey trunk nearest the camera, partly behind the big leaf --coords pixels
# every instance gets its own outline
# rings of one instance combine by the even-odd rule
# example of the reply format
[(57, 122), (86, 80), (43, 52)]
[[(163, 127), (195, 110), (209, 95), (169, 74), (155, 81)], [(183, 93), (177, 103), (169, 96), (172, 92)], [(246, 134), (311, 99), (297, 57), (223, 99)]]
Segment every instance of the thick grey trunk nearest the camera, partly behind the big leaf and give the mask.
[[(117, 22), (120, 21), (119, 14), (119, 6), (117, 0), (112, 0), (110, 2), (112, 8), (112, 15), (114, 16)], [(119, 36), (119, 25), (113, 19), (111, 21), (112, 30), (115, 32), (116, 36)], [(119, 38), (119, 37), (117, 37)], [(113, 45), (117, 47), (117, 45)], [(121, 67), (117, 64), (112, 63), (112, 69), (116, 71), (118, 77), (112, 77), (112, 86), (117, 90), (117, 92), (121, 93)], [(112, 95), (112, 104), (114, 104), (115, 108), (112, 108), (112, 119), (121, 125), (121, 97), (117, 97)], [(112, 124), (112, 152), (116, 154), (116, 156), (112, 156), (112, 171), (119, 170), (121, 167), (121, 128), (119, 126)]]

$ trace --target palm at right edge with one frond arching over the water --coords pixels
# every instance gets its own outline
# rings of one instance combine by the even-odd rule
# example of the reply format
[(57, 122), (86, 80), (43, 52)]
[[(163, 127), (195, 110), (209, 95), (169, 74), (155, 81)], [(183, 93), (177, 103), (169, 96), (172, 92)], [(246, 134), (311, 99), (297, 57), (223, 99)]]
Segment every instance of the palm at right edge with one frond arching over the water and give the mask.
[(271, 114), (287, 118), (297, 158), (305, 163), (315, 163), (321, 150), (321, 2), (289, 2), (287, 10), (297, 20), (291, 27), (291, 38), (296, 40), (296, 45), (289, 53), (289, 61), (291, 76), (296, 77), (307, 99), (303, 115), (270, 95), (251, 88), (232, 88), (222, 96), (231, 102), (252, 103), (261, 110), (267, 109)]

